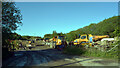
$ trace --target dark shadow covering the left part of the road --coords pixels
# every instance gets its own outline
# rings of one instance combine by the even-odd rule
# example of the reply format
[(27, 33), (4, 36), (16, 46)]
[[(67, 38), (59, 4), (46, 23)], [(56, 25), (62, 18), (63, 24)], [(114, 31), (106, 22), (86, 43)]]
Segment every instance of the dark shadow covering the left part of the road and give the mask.
[(16, 51), (11, 58), (2, 60), (2, 66), (39, 66), (42, 63), (65, 58), (72, 59), (73, 56), (62, 54), (62, 51), (57, 49)]

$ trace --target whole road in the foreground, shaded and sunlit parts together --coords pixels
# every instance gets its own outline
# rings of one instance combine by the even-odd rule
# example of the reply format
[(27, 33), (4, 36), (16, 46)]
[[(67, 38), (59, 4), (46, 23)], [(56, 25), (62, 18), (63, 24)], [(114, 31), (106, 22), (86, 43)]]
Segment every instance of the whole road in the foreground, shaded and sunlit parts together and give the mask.
[(66, 55), (48, 46), (37, 46), (32, 50), (14, 53), (13, 57), (3, 61), (3, 66), (118, 66), (115, 60)]

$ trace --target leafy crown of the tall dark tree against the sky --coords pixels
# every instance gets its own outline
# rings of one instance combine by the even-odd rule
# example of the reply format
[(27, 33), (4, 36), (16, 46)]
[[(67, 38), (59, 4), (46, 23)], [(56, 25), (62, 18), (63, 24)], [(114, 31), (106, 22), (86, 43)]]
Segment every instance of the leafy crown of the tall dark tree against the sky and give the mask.
[(15, 31), (22, 24), (22, 15), (14, 2), (2, 3), (2, 32)]

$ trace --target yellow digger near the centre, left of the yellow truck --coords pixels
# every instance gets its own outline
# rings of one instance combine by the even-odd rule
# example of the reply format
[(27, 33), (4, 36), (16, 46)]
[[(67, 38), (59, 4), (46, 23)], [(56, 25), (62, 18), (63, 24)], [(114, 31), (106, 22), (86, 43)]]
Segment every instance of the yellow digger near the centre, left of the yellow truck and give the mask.
[(52, 46), (56, 49), (62, 49), (67, 47), (67, 42), (65, 41), (65, 36), (55, 36), (52, 39)]

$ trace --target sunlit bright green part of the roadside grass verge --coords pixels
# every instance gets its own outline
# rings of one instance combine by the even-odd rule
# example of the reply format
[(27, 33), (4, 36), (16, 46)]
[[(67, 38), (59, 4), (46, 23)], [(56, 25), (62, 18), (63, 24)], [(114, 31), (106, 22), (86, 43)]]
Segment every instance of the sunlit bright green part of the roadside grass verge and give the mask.
[(110, 52), (100, 51), (96, 48), (89, 48), (84, 53), (84, 56), (118, 59), (118, 47), (111, 50)]

